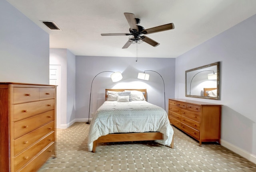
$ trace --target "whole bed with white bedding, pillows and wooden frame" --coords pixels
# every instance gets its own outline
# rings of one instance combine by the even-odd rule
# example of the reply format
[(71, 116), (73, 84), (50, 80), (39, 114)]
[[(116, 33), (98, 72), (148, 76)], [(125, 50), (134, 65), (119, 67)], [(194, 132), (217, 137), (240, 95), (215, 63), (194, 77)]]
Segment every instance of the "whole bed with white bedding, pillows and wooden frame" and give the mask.
[[(118, 101), (113, 96), (117, 93)], [(156, 141), (173, 148), (174, 131), (166, 111), (146, 102), (146, 96), (146, 89), (106, 89), (106, 101), (90, 124), (89, 151), (96, 152), (98, 143), (125, 141)], [(120, 102), (124, 97), (126, 100)]]

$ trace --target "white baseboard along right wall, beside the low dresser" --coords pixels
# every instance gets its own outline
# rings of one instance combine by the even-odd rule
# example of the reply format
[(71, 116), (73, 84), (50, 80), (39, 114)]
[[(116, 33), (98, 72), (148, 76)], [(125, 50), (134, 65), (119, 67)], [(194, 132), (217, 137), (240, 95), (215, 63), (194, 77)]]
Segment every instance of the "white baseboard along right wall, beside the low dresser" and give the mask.
[(256, 156), (253, 155), (253, 154), (250, 154), (249, 152), (235, 146), (235, 145), (232, 145), (231, 143), (228, 143), (227, 141), (224, 141), (224, 140), (221, 140), (220, 141), (221, 145), (228, 148), (229, 150), (239, 154), (240, 156), (248, 159), (249, 161), (253, 162), (256, 164)]

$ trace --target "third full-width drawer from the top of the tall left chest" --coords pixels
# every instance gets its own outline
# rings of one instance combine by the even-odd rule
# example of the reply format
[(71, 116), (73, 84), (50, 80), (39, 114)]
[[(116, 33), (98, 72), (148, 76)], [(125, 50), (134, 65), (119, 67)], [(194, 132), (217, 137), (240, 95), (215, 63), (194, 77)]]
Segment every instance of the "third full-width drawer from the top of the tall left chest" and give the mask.
[[(30, 147), (36, 141), (54, 131), (54, 121), (14, 140), (14, 156)], [(54, 141), (54, 140), (52, 140)]]

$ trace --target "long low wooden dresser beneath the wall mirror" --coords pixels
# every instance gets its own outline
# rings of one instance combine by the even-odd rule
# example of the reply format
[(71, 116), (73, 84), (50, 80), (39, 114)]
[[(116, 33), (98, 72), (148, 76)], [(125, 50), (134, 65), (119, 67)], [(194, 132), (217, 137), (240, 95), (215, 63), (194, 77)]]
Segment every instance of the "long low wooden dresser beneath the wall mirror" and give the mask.
[(202, 142), (220, 143), (221, 105), (169, 99), (170, 123)]

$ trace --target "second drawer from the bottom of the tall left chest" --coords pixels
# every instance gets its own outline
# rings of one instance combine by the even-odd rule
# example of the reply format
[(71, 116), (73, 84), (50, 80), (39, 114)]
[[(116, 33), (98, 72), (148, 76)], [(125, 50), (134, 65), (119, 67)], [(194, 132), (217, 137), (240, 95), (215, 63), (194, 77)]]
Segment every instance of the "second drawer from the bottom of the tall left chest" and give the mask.
[(14, 166), (15, 166), (15, 171), (20, 169), (24, 164), (29, 162), (38, 152), (40, 152), (42, 149), (44, 149), (47, 145), (52, 143), (54, 140), (54, 131), (44, 137), (42, 140), (34, 144), (32, 147), (26, 149), (26, 151), (18, 154), (18, 156), (15, 156), (14, 158)]

